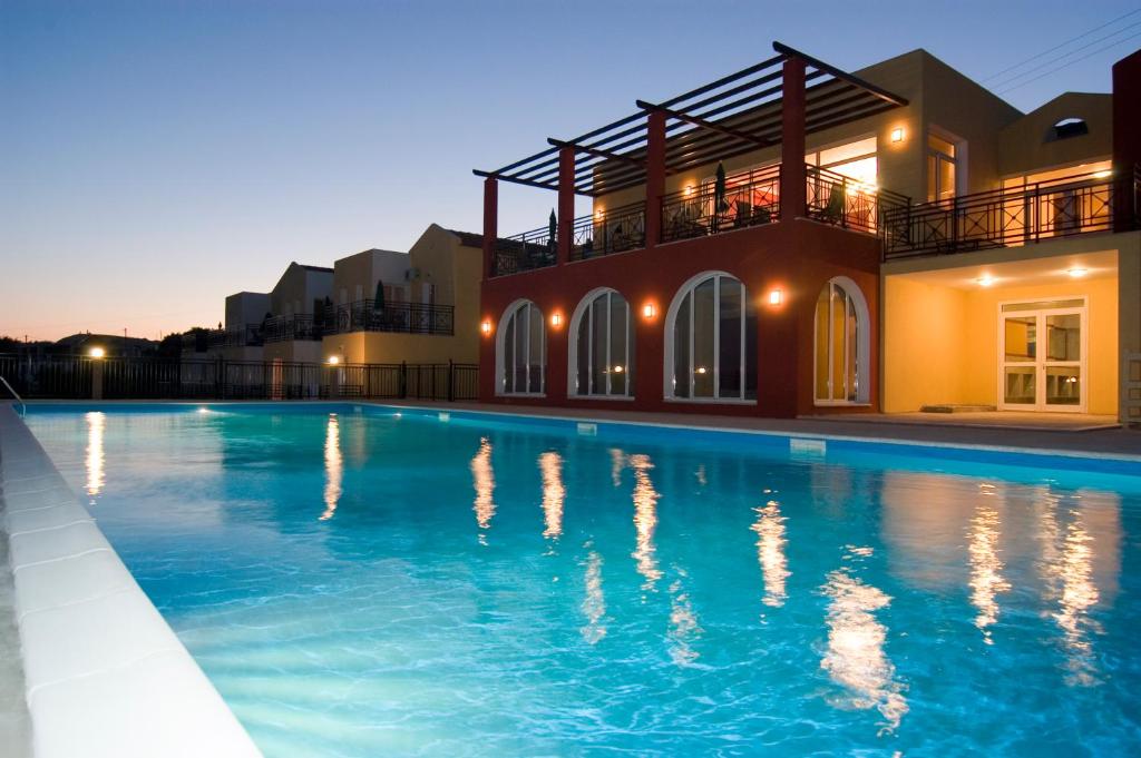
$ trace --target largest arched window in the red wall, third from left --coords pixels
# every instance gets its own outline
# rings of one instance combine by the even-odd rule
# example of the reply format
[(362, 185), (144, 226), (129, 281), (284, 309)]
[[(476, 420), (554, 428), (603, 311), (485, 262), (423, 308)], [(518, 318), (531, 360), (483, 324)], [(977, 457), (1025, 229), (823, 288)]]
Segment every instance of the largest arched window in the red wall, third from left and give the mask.
[(690, 279), (670, 305), (665, 334), (665, 397), (756, 399), (756, 311), (739, 279)]

